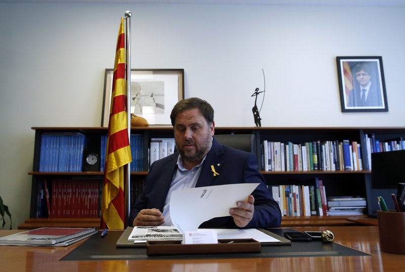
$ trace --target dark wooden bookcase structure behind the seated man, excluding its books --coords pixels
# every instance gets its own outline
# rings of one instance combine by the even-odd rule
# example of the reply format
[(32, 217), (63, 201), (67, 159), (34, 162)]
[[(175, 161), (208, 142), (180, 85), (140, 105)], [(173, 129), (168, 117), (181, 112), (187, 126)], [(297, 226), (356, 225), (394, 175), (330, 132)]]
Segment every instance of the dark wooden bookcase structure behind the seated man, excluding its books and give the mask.
[[(32, 176), (32, 189), (30, 201), (30, 218), (19, 228), (36, 228), (44, 225), (58, 226), (89, 226), (91, 224), (98, 226), (100, 219), (80, 217), (80, 218), (47, 218), (47, 209), (44, 207), (46, 202), (42, 202), (43, 212), (38, 218), (38, 208), (41, 201), (38, 199), (38, 193), (41, 192), (41, 186), (44, 180), (47, 181), (49, 193), (52, 193), (52, 180), (92, 180), (93, 183), (101, 183), (103, 179), (102, 171), (62, 171), (49, 172), (39, 171), (41, 160), (41, 144), (43, 135), (47, 133), (81, 133), (86, 135), (87, 144), (84, 154), (97, 153), (100, 155), (101, 136), (107, 134), (106, 127), (32, 127), (35, 130), (33, 168), (28, 174)], [(275, 185), (311, 185), (314, 178), (322, 179), (326, 188), (327, 196), (349, 196), (356, 195), (366, 197), (368, 200), (367, 212), (372, 212), (370, 198), (375, 194), (371, 187), (371, 171), (367, 169), (365, 160), (363, 160), (364, 170), (343, 171), (343, 170), (307, 170), (307, 171), (264, 171), (262, 166), (262, 144), (263, 141), (273, 141), (282, 143), (305, 143), (312, 141), (356, 141), (361, 146), (361, 157), (366, 158), (367, 152), (363, 148), (366, 146), (365, 135), (374, 135), (380, 142), (391, 139), (405, 138), (405, 127), (216, 127), (215, 134), (254, 134), (255, 135), (255, 153), (257, 155), (259, 170), (266, 179), (268, 186)], [(150, 126), (150, 127), (132, 127), (131, 134), (142, 135), (142, 153), (143, 170), (131, 172), (131, 199), (128, 201), (134, 203), (136, 197), (142, 191), (148, 169), (148, 147), (152, 138), (173, 138), (171, 126)], [(99, 188), (98, 188), (99, 189)], [(97, 189), (94, 189), (97, 190)], [(94, 199), (94, 197), (93, 197)], [(50, 196), (52, 202), (52, 196)], [(45, 204), (44, 204), (45, 203)], [(52, 203), (50, 204), (52, 207)], [(282, 225), (305, 225), (305, 224), (348, 224), (345, 218), (349, 216), (293, 216), (283, 217)], [(83, 223), (83, 224), (82, 224)]]

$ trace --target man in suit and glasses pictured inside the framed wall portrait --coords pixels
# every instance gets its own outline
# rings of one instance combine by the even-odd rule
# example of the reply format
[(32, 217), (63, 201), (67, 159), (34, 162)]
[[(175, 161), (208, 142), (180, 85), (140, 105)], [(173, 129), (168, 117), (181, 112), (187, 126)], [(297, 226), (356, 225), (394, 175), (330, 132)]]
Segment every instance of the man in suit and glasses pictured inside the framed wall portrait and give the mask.
[(382, 106), (381, 92), (377, 84), (372, 84), (371, 71), (365, 62), (354, 66), (354, 74), (359, 84), (358, 88), (350, 90), (349, 107)]

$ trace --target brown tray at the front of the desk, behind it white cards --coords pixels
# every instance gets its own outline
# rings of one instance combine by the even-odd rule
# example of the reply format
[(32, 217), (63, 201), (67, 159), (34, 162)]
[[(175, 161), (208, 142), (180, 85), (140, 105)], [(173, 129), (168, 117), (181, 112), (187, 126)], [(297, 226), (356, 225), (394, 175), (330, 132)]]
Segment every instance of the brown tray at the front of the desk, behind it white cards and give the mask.
[(254, 239), (220, 239), (218, 244), (181, 244), (181, 241), (147, 241), (146, 254), (179, 255), (204, 253), (261, 252), (261, 244)]

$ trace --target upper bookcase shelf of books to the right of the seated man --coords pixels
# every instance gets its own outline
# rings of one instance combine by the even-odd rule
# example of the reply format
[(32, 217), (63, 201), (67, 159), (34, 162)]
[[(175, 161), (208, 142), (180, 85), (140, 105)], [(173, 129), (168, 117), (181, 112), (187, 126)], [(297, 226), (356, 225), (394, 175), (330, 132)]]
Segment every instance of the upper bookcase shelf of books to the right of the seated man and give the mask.
[(270, 129), (258, 136), (265, 171), (363, 170), (358, 129)]

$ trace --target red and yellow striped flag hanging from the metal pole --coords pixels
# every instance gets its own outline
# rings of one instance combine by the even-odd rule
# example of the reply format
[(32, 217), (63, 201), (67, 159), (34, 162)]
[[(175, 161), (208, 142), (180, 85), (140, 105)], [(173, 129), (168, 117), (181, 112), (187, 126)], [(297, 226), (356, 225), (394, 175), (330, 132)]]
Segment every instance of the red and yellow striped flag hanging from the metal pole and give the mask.
[(125, 88), (125, 33), (124, 18), (119, 25), (110, 117), (108, 122), (107, 150), (104, 167), (101, 228), (124, 229), (124, 165), (132, 161), (128, 137), (127, 97)]

